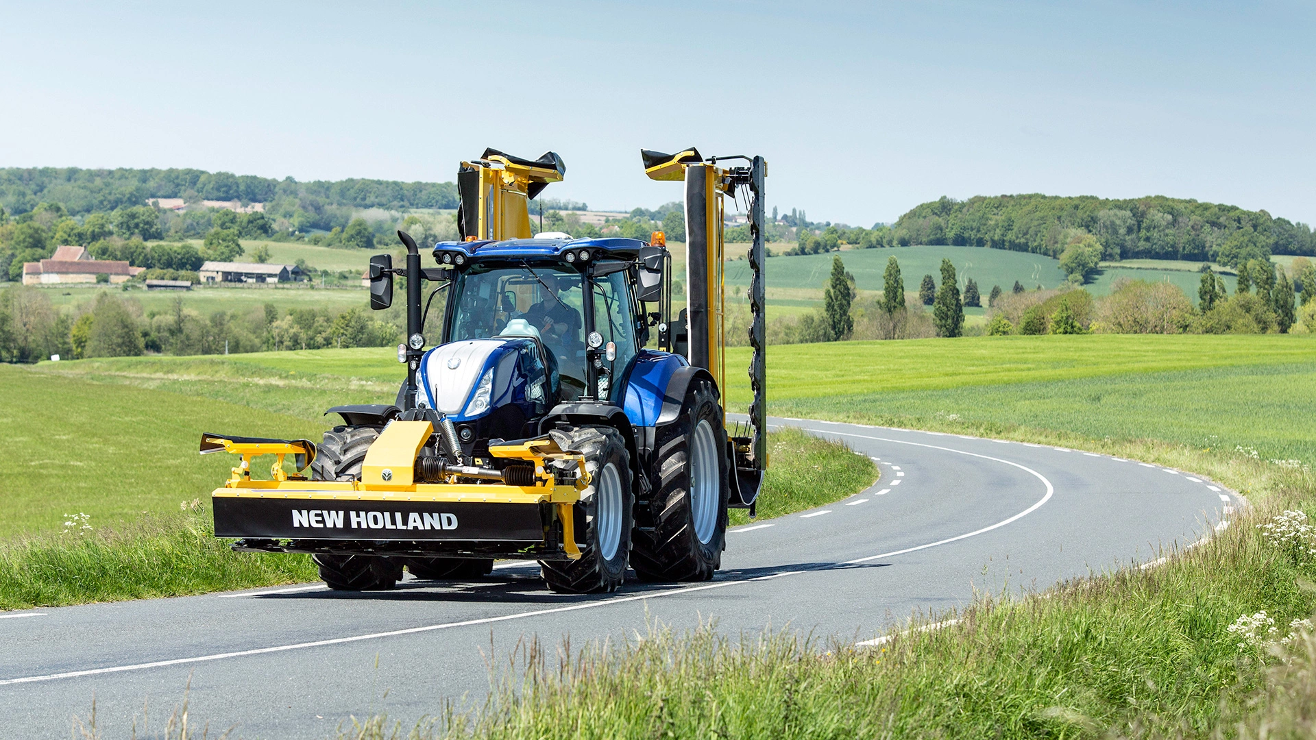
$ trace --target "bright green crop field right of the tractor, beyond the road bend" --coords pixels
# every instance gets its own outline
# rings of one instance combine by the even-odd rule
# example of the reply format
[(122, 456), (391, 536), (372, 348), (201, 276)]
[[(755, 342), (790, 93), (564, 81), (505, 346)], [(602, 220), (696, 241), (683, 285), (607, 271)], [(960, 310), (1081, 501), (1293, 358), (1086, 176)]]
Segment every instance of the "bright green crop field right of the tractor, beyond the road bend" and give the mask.
[[(772, 346), (769, 408), (904, 427), (1158, 438), (1316, 462), (1308, 336), (965, 337)], [(733, 407), (749, 400), (728, 350)], [(845, 390), (841, 390), (845, 388)]]

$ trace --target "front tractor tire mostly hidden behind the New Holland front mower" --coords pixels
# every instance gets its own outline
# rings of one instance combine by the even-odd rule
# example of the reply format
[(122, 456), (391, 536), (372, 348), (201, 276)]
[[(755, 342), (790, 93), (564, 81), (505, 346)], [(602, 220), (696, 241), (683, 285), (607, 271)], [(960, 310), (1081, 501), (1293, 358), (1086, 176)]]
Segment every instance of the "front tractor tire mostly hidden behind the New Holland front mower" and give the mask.
[[(379, 437), (374, 427), (334, 427), (316, 448), (311, 462), (313, 481), (359, 481), (366, 450)], [(316, 554), (320, 578), (337, 591), (392, 589), (403, 578), (401, 561), (383, 556)]]

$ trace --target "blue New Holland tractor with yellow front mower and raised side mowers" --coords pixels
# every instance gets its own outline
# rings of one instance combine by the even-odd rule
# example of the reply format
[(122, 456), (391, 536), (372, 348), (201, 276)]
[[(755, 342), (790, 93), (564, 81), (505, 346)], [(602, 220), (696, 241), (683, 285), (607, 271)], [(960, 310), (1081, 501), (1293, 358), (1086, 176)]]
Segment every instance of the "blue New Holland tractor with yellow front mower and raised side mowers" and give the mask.
[[(650, 178), (686, 184), (678, 316), (662, 232), (532, 236), (528, 201), (561, 180), (562, 159), (486, 150), (462, 162), (462, 240), (436, 244), (434, 267), (403, 232), (404, 266), (371, 258), (372, 308), (405, 280), (396, 403), (330, 408), (342, 424), (320, 444), (204, 435), (203, 453), (241, 456), (213, 492), (216, 536), (237, 537), (238, 550), (312, 553), (342, 590), (390, 589), (404, 569), (479, 577), (496, 557), (537, 560), (561, 593), (612, 591), (628, 566), (642, 581), (712, 578), (728, 508), (753, 511), (767, 463), (766, 165), (720, 158), (744, 161), (728, 167), (695, 149), (642, 158)], [(737, 194), (753, 234), (754, 399), (749, 425), (728, 431), (722, 201)], [(268, 479), (251, 475), (262, 454), (276, 456)]]

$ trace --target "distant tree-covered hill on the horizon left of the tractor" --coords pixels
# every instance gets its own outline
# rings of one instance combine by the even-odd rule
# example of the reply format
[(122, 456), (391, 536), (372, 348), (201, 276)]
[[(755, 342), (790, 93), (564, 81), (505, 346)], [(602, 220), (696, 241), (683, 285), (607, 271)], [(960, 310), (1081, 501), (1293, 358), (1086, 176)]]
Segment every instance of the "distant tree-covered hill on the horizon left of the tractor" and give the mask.
[(79, 167), (0, 169), (0, 205), (11, 215), (39, 203), (61, 203), (70, 215), (145, 205), (157, 198), (270, 203), (313, 199), (317, 207), (457, 208), (453, 183), (404, 183), (350, 178), (297, 182), (205, 170), (83, 170)]

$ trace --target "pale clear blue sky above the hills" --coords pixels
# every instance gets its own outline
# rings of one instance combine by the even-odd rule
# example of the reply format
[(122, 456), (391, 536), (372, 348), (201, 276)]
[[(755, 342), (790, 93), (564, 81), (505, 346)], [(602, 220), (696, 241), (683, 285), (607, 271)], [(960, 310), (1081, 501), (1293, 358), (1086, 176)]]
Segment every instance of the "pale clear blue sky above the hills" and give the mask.
[(641, 147), (763, 154), (769, 203), (1163, 194), (1316, 220), (1312, 3), (7, 3), (0, 166), (450, 180), (654, 207)]

